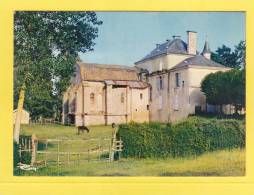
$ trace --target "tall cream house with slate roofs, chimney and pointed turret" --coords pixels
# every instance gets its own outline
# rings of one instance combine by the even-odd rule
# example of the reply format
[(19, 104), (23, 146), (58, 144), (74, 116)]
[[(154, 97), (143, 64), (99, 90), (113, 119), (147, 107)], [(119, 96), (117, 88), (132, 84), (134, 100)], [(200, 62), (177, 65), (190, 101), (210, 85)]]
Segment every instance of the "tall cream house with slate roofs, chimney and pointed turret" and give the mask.
[(135, 66), (144, 72), (150, 85), (150, 121), (174, 122), (199, 111), (209, 111), (200, 86), (204, 77), (229, 68), (210, 59), (205, 42), (203, 52), (197, 52), (197, 33), (187, 31), (187, 43), (179, 36), (157, 44), (156, 48)]

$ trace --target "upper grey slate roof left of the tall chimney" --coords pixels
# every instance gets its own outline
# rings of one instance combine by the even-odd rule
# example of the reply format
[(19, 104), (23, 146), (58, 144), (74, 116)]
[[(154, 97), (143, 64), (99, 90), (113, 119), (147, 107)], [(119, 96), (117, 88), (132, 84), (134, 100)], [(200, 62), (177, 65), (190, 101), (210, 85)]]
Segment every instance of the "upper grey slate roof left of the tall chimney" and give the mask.
[(142, 58), (138, 62), (148, 60), (155, 56), (158, 56), (161, 54), (167, 54), (167, 53), (188, 54), (187, 43), (185, 43), (182, 39), (179, 39), (179, 38), (167, 40), (167, 42), (165, 43), (158, 44), (157, 47), (151, 51), (151, 53), (146, 55), (144, 58)]

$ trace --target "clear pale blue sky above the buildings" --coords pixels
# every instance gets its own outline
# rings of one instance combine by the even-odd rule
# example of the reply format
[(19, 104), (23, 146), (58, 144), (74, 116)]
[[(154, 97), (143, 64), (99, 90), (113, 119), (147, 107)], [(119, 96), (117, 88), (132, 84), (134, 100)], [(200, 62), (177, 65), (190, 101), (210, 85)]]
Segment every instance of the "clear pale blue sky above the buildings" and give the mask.
[(103, 21), (94, 51), (80, 54), (90, 63), (134, 63), (150, 53), (158, 43), (181, 36), (187, 42), (186, 31), (196, 31), (198, 51), (202, 52), (206, 37), (210, 49), (223, 44), (234, 48), (245, 40), (244, 12), (96, 12)]

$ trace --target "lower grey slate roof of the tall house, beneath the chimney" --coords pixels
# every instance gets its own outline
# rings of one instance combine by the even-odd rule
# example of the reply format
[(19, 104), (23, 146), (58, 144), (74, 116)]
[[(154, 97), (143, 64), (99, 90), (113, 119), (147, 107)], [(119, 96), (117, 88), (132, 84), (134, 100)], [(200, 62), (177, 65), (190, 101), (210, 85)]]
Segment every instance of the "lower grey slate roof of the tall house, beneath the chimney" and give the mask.
[(209, 59), (205, 58), (202, 55), (196, 55), (194, 57), (190, 57), (190, 58), (187, 58), (187, 59), (183, 60), (182, 62), (180, 62), (179, 64), (177, 64), (176, 66), (174, 66), (171, 69), (181, 68), (181, 67), (185, 67), (185, 66), (188, 66), (188, 65), (196, 65), (196, 66), (204, 66), (204, 67), (211, 66), (211, 67), (225, 68), (225, 66), (223, 66), (223, 65), (221, 65), (217, 62), (214, 62), (212, 60), (209, 60)]

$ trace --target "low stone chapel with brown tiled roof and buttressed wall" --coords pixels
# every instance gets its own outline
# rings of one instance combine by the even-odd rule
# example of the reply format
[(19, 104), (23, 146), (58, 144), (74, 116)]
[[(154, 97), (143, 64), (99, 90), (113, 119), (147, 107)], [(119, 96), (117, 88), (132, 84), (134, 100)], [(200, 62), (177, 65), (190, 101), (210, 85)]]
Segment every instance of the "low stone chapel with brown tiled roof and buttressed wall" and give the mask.
[(63, 96), (63, 124), (149, 121), (149, 84), (135, 67), (78, 62)]

